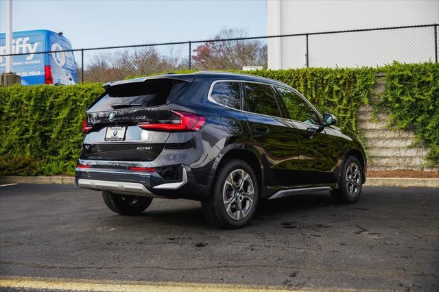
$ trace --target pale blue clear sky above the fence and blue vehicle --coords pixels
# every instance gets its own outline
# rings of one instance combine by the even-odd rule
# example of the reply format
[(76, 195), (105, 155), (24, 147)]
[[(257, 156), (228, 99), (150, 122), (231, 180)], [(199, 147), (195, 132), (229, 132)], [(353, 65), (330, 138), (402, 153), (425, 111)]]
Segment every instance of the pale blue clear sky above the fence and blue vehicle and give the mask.
[[(13, 0), (14, 32), (63, 32), (73, 48), (210, 39), (222, 29), (267, 35), (265, 0)], [(0, 32), (5, 1), (0, 0)]]

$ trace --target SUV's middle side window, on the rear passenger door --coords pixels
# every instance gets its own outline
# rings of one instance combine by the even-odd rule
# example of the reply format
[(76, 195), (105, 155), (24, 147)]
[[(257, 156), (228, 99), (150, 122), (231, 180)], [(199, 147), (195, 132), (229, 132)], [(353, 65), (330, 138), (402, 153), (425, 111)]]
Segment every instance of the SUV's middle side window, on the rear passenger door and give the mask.
[(274, 91), (270, 85), (245, 83), (246, 110), (257, 114), (281, 117)]

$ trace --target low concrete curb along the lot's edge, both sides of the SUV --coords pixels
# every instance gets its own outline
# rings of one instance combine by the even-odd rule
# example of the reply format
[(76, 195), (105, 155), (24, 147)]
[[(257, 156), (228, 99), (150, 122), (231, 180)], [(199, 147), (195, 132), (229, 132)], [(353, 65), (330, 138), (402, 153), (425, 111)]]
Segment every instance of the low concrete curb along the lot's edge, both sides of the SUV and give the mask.
[[(2, 184), (74, 184), (73, 176), (3, 176)], [(439, 188), (439, 178), (367, 178), (365, 186), (422, 186)]]

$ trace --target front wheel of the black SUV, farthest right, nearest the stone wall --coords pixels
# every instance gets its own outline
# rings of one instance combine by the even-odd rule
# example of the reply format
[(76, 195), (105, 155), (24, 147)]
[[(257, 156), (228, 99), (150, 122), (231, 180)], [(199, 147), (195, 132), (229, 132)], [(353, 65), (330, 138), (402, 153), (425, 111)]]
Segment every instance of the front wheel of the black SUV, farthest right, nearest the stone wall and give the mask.
[[(352, 169), (355, 167), (355, 177), (352, 176)], [(355, 181), (355, 182), (354, 182)], [(339, 188), (331, 192), (335, 202), (342, 204), (353, 204), (358, 201), (361, 195), (363, 184), (363, 169), (361, 163), (355, 156), (348, 156), (344, 160)]]

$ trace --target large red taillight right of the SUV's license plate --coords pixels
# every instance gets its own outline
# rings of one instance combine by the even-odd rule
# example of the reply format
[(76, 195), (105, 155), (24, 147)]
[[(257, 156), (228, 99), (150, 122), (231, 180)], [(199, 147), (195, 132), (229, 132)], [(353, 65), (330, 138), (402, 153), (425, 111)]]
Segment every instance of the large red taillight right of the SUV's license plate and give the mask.
[(206, 118), (191, 112), (171, 110), (171, 123), (138, 123), (139, 127), (148, 130), (163, 131), (199, 131), (206, 123)]

